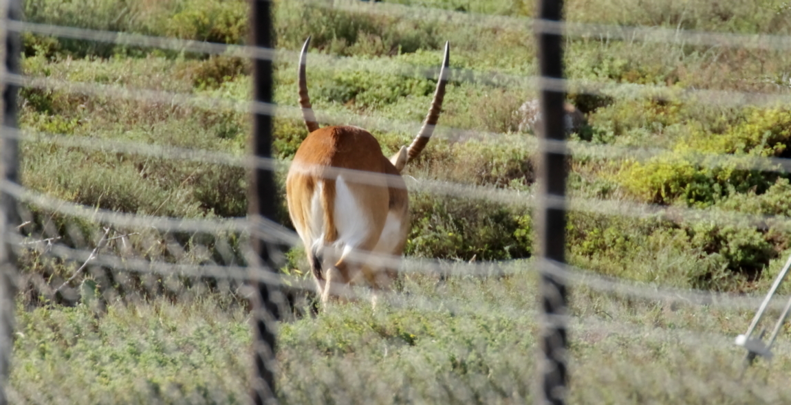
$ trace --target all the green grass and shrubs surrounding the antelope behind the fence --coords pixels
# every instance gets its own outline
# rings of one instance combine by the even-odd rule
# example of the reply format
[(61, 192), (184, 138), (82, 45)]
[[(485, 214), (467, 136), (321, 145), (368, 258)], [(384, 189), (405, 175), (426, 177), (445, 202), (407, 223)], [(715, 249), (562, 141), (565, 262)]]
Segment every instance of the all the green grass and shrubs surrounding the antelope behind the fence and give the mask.
[[(388, 4), (389, 3), (389, 4)], [(444, 9), (436, 13), (400, 6)], [(427, 184), (480, 187), (481, 195), (411, 192), (411, 259), (441, 259), (448, 278), (411, 275), (402, 305), (338, 305), (320, 316), (280, 325), (279, 395), (284, 403), (525, 403), (535, 392), (536, 280), (531, 273), (464, 276), (475, 259), (530, 266), (535, 252), (535, 135), (518, 131), (515, 112), (536, 97), (533, 2), (399, 0), (382, 5), (276, 1), (277, 47), (297, 50), (312, 36), (308, 86), (316, 112), (368, 120), (383, 150), (410, 142), (436, 84), (445, 40), (451, 66), (435, 138), (405, 172)], [(398, 11), (407, 10), (408, 13)], [(425, 12), (424, 12), (425, 11)], [(30, 21), (244, 44), (241, 0), (28, 0)], [(780, 0), (653, 4), (636, 0), (566, 3), (570, 21), (725, 33), (788, 35), (789, 7)], [(418, 15), (419, 14), (419, 15)], [(498, 16), (493, 20), (491, 15)], [(505, 19), (501, 18), (505, 17)], [(306, 21), (309, 23), (306, 24)], [(488, 22), (488, 23), (486, 23)], [(481, 24), (484, 23), (484, 24)], [(789, 176), (713, 167), (702, 153), (789, 156), (785, 105), (721, 104), (696, 90), (787, 96), (788, 52), (617, 40), (566, 38), (567, 76), (603, 83), (596, 94), (570, 93), (587, 126), (575, 146), (664, 148), (649, 158), (574, 156), (572, 199), (703, 210), (693, 217), (632, 218), (572, 211), (567, 257), (573, 265), (652, 288), (760, 295), (789, 254), (781, 224), (789, 217)], [(57, 81), (184, 93), (230, 101), (250, 98), (250, 64), (229, 55), (95, 44), (25, 35), (25, 74)], [(297, 106), (296, 61), (278, 59), (275, 101)], [(657, 97), (618, 85), (661, 86)], [(244, 112), (145, 102), (110, 93), (24, 89), (21, 127), (64, 139), (134, 142), (149, 150), (177, 146), (240, 157), (251, 131)], [(354, 119), (352, 119), (352, 123)], [(405, 125), (399, 125), (405, 123)], [(461, 134), (458, 131), (463, 131)], [(274, 123), (274, 152), (288, 162), (305, 137), (289, 115)], [(92, 208), (139, 218), (237, 218), (246, 212), (244, 170), (22, 142), (25, 187)], [(278, 187), (283, 183), (278, 172)], [(484, 194), (488, 193), (488, 194)], [(509, 193), (509, 203), (486, 201)], [(282, 195), (282, 192), (280, 193)], [(524, 200), (524, 201), (523, 201)], [(290, 225), (285, 206), (279, 216)], [(26, 206), (27, 237), (61, 237), (90, 251), (104, 222)], [(729, 214), (775, 216), (765, 226)], [(151, 221), (154, 221), (153, 219)], [(244, 265), (244, 237), (117, 227), (102, 253), (124, 260)], [(125, 235), (125, 236), (124, 236)], [(124, 237), (122, 237), (124, 236)], [(237, 286), (187, 274), (154, 276), (92, 267), (65, 292), (81, 261), (53, 258), (46, 244), (21, 250), (25, 275), (17, 308), (11, 377), (14, 403), (239, 403), (248, 378), (247, 312)], [(303, 252), (286, 252), (283, 270), (306, 274)], [(528, 262), (519, 260), (528, 259)], [(126, 262), (125, 262), (126, 263)], [(500, 262), (496, 262), (500, 263)], [(90, 287), (96, 283), (98, 290)], [(90, 290), (90, 292), (89, 292)], [(789, 293), (782, 287), (782, 293)], [(100, 294), (99, 304), (90, 297)], [(726, 300), (727, 301), (727, 300)], [(789, 346), (782, 338), (771, 363), (759, 361), (740, 380), (743, 353), (732, 338), (754, 307), (717, 301), (692, 305), (636, 299), (585, 286), (573, 290), (570, 364), (573, 403), (784, 403), (791, 392)], [(726, 302), (727, 303), (727, 302)], [(98, 307), (97, 307), (98, 305)]]

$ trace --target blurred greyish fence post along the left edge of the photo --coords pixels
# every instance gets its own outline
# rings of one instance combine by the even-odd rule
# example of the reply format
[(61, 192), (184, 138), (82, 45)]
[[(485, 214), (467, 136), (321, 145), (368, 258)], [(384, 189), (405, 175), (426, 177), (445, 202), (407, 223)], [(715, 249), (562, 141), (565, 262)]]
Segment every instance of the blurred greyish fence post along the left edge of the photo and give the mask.
[[(2, 40), (3, 59), (0, 68), (0, 89), (2, 89), (2, 128), (17, 127), (17, 85), (6, 81), (6, 74), (19, 74), (21, 40), (17, 32), (6, 30), (8, 20), (21, 20), (19, 0), (0, 1), (0, 21), (3, 21), (0, 40)], [(7, 20), (6, 20), (7, 18)], [(0, 181), (18, 183), (19, 145), (15, 137), (0, 136)], [(14, 296), (16, 293), (17, 268), (12, 246), (6, 238), (7, 233), (19, 223), (16, 201), (0, 188), (0, 404), (8, 403), (7, 387), (10, 373), (10, 360), (13, 350)]]

